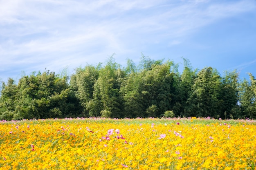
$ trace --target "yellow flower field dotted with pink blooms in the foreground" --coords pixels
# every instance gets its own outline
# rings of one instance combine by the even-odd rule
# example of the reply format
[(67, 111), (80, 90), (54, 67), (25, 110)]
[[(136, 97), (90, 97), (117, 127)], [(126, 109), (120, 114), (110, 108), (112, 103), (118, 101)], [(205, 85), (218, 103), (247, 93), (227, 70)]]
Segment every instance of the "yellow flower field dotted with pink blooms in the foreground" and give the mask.
[(254, 170), (256, 121), (0, 121), (0, 169)]

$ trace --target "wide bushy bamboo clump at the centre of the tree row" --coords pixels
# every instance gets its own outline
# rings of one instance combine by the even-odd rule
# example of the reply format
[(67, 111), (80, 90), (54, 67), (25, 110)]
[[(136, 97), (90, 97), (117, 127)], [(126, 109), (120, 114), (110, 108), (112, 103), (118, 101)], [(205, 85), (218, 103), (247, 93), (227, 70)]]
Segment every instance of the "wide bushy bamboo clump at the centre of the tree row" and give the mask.
[(159, 64), (150, 59), (142, 63), (145, 61), (150, 62), (139, 72), (128, 75), (121, 86), (126, 117), (160, 117), (171, 109), (173, 63)]

